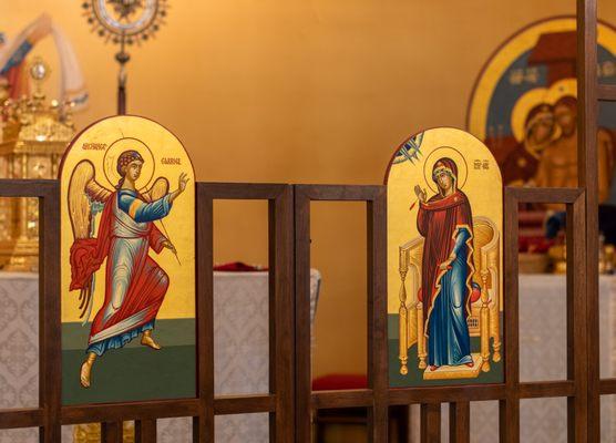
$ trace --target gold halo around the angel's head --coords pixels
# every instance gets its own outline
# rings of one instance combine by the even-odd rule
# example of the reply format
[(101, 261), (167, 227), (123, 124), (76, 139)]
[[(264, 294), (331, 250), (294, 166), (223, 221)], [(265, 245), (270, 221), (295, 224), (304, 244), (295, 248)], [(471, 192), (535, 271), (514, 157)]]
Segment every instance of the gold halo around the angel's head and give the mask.
[(106, 150), (105, 156), (103, 157), (103, 171), (105, 173), (105, 178), (112, 187), (115, 187), (120, 182), (120, 174), (116, 169), (117, 157), (124, 151), (136, 151), (143, 157), (143, 166), (141, 169), (141, 176), (135, 183), (137, 190), (143, 190), (147, 188), (154, 177), (154, 169), (156, 165), (154, 164), (154, 155), (150, 147), (138, 138), (134, 137), (122, 137), (113, 142)]

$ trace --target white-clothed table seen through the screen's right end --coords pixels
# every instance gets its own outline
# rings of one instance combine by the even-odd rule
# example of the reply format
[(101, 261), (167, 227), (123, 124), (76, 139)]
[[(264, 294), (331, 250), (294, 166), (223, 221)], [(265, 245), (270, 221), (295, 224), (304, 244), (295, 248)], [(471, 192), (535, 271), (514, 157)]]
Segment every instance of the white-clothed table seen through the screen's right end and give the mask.
[[(616, 277), (599, 279), (600, 377), (616, 377)], [(505, 307), (506, 309), (506, 307)], [(520, 381), (565, 380), (566, 280), (556, 275), (520, 276)], [(448, 442), (446, 406), (442, 408), (442, 442)], [(520, 441), (567, 441), (567, 401), (522, 400)], [(419, 442), (419, 406), (411, 411), (412, 441)], [(471, 403), (471, 442), (499, 441), (499, 402)], [(616, 395), (602, 398), (602, 443), (616, 442)]]

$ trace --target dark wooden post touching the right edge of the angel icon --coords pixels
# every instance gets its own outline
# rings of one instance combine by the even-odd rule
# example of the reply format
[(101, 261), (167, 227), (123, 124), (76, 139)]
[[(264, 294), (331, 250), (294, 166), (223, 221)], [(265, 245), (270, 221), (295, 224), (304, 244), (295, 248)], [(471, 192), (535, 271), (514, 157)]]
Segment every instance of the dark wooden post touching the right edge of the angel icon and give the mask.
[(193, 419), (193, 441), (214, 442), (214, 203), (206, 185), (197, 183), (197, 398), (199, 415)]

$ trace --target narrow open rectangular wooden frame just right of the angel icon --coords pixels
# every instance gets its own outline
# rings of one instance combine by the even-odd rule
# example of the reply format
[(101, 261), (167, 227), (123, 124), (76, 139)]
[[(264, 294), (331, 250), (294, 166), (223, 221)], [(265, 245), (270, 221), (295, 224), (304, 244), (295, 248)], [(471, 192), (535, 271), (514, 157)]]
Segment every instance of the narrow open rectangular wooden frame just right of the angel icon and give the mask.
[[(194, 441), (214, 442), (214, 416), (267, 412), (269, 441), (294, 439), (292, 190), (289, 185), (197, 183), (197, 330), (199, 414)], [(269, 206), (269, 394), (214, 395), (214, 200), (260, 199)]]

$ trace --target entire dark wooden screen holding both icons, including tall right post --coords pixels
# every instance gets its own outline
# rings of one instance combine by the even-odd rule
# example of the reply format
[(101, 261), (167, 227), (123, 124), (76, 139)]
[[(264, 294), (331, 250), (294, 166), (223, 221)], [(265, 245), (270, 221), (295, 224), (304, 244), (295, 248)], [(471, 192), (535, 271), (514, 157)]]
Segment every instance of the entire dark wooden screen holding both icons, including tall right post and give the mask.
[[(198, 383), (194, 399), (61, 406), (59, 186), (55, 181), (0, 181), (0, 197), (40, 202), (40, 399), (39, 406), (0, 411), (0, 430), (39, 427), (41, 441), (59, 443), (63, 424), (103, 423), (104, 443), (121, 442), (122, 421), (135, 420), (141, 442), (156, 441), (156, 419), (194, 418), (194, 441), (214, 441), (214, 416), (266, 412), (270, 441), (308, 443), (311, 411), (367, 408), (370, 439), (386, 442), (388, 410), (421, 404), (423, 442), (441, 439), (441, 403), (450, 404), (450, 437), (470, 441), (470, 401), (500, 402), (500, 441), (520, 441), (520, 400), (566, 398), (571, 442), (600, 439), (600, 396), (616, 394), (616, 379), (599, 378), (597, 113), (616, 101), (616, 86), (598, 85), (596, 0), (577, 0), (579, 187), (505, 189), (505, 382), (500, 384), (390, 389), (387, 371), (386, 188), (197, 184)], [(295, 197), (295, 207), (294, 207)], [(265, 395), (215, 396), (213, 350), (213, 202), (269, 202), (270, 391)], [(366, 390), (311, 392), (309, 233), (310, 202), (367, 202), (368, 379)], [(517, 205), (567, 206), (567, 378), (522, 383), (519, 377)], [(294, 217), (295, 214), (295, 217)], [(295, 238), (295, 244), (294, 244)], [(575, 270), (575, 271), (574, 271)], [(295, 285), (295, 299), (294, 299)], [(295, 315), (294, 315), (295, 313)], [(291, 331), (295, 330), (295, 336)]]

